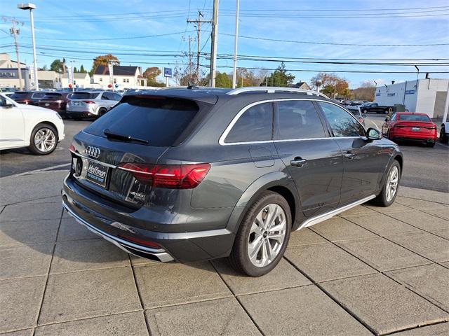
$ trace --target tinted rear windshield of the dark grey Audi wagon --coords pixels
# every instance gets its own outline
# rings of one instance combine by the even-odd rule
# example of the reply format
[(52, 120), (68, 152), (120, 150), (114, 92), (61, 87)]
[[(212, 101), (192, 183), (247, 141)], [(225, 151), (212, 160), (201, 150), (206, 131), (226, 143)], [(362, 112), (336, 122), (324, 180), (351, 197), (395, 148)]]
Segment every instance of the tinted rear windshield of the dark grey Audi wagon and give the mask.
[(144, 139), (149, 146), (172, 146), (192, 122), (199, 107), (187, 99), (126, 97), (84, 132), (105, 137), (103, 131)]

